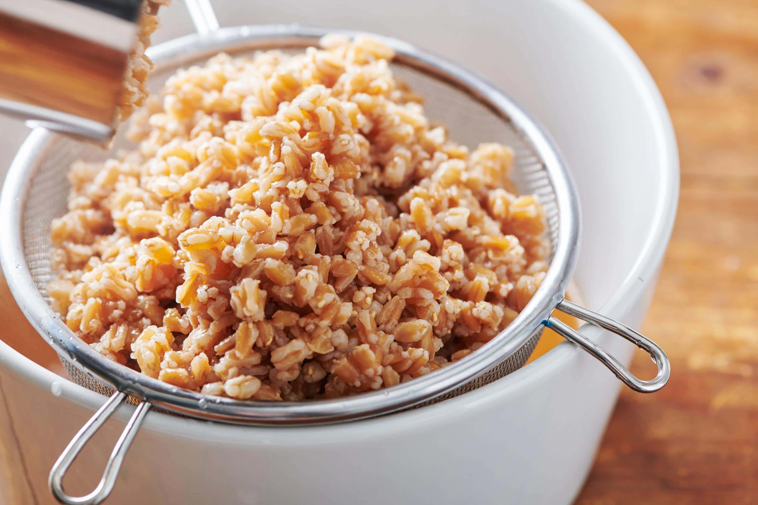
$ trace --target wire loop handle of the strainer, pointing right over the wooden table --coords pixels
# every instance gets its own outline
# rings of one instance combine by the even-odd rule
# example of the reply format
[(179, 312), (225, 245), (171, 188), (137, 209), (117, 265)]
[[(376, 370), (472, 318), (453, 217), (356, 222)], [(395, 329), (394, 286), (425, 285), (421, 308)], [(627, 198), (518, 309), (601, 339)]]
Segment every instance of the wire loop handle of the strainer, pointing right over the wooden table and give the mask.
[(615, 376), (621, 379), (625, 385), (628, 385), (631, 389), (634, 389), (634, 391), (638, 391), (640, 393), (654, 393), (666, 385), (666, 382), (669, 380), (669, 375), (671, 375), (671, 363), (669, 363), (669, 357), (667, 357), (666, 353), (663, 352), (660, 346), (650, 340), (650, 338), (641, 335), (639, 332), (635, 332), (633, 329), (623, 325), (622, 323), (619, 323), (618, 321), (609, 319), (606, 316), (602, 316), (597, 312), (585, 309), (584, 307), (581, 307), (577, 304), (572, 304), (570, 301), (561, 301), (556, 306), (556, 309), (560, 310), (563, 313), (567, 313), (570, 316), (575, 316), (578, 319), (586, 321), (587, 323), (607, 329), (609, 332), (613, 332), (616, 335), (620, 335), (626, 338), (628, 341), (637, 345), (638, 348), (641, 348), (650, 354), (650, 357), (653, 358), (653, 363), (656, 363), (658, 366), (658, 374), (654, 379), (643, 381), (637, 379), (637, 377), (632, 375), (632, 373), (629, 372), (629, 370), (624, 365), (622, 365), (619, 360), (615, 359), (615, 357), (612, 357), (608, 351), (601, 348), (600, 345), (595, 344), (594, 341), (591, 341), (589, 338), (585, 337), (580, 332), (573, 329), (571, 326), (568, 326), (553, 316), (550, 316), (547, 318), (547, 320), (543, 321), (543, 324), (547, 326), (547, 328), (552, 329), (554, 332), (558, 333), (566, 340), (577, 344), (579, 347), (584, 349), (584, 351), (587, 351), (598, 360), (600, 360), (612, 371), (612, 373), (615, 373)]

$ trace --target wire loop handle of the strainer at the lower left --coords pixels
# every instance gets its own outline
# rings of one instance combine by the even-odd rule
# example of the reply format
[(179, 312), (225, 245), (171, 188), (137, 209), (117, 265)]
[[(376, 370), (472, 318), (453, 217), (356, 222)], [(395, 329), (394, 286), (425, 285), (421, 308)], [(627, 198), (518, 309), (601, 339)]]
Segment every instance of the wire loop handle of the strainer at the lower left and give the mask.
[(97, 503), (102, 502), (102, 500), (105, 500), (105, 498), (108, 497), (108, 494), (111, 493), (111, 490), (116, 483), (118, 470), (121, 469), (121, 463), (124, 462), (124, 456), (126, 456), (127, 450), (129, 450), (129, 446), (134, 440), (137, 430), (139, 430), (139, 426), (142, 425), (143, 419), (145, 419), (148, 410), (150, 410), (151, 405), (147, 401), (139, 404), (134, 411), (132, 418), (129, 419), (124, 432), (121, 433), (121, 437), (118, 438), (115, 447), (113, 447), (111, 457), (108, 458), (108, 463), (105, 465), (105, 472), (102, 474), (102, 479), (100, 479), (95, 491), (82, 497), (69, 496), (63, 490), (62, 482), (64, 475), (66, 475), (66, 470), (70, 464), (74, 463), (74, 460), (77, 459), (77, 456), (84, 445), (90, 438), (92, 438), (92, 435), (95, 435), (103, 423), (108, 420), (111, 414), (114, 413), (126, 397), (127, 394), (122, 393), (121, 391), (111, 396), (111, 398), (105, 402), (105, 405), (100, 407), (100, 410), (92, 416), (92, 419), (89, 419), (86, 425), (79, 430), (77, 435), (74, 435), (74, 438), (70, 441), (68, 447), (63, 450), (63, 454), (61, 454), (61, 457), (59, 457), (58, 461), (53, 465), (52, 470), (50, 470), (48, 485), (53, 496), (55, 496), (55, 499), (59, 502), (64, 503), (65, 505), (96, 505)]

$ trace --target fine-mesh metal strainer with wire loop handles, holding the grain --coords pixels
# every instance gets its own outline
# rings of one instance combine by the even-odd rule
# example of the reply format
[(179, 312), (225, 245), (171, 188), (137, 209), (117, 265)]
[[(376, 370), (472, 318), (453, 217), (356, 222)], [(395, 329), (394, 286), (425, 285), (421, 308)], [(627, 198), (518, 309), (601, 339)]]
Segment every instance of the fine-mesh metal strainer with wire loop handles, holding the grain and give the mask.
[[(208, 9), (194, 14), (198, 34), (150, 51), (156, 64), (151, 77), (153, 92), (177, 68), (202, 62), (218, 51), (233, 55), (271, 48), (297, 51), (318, 44), (321, 36), (334, 32), (303, 26), (218, 29)], [(550, 268), (532, 300), (500, 335), (475, 353), (382, 391), (334, 400), (267, 403), (211, 397), (177, 388), (105, 359), (70, 332), (50, 307), (45, 293), (45, 285), (52, 279), (50, 223), (66, 210), (68, 167), (80, 159), (102, 161), (108, 153), (36, 129), (15, 157), (0, 196), (0, 219), (5, 232), (0, 241), (2, 268), (23, 313), (58, 351), (72, 379), (111, 396), (52, 469), (52, 492), (62, 503), (99, 503), (107, 497), (126, 451), (151, 408), (180, 416), (258, 425), (313, 425), (381, 416), (443, 401), (511, 373), (531, 354), (544, 326), (593, 354), (635, 391), (653, 392), (666, 384), (669, 360), (658, 345), (620, 323), (563, 299), (578, 254), (579, 207), (571, 176), (547, 133), (503, 92), (480, 77), (405, 42), (380, 39), (396, 51), (393, 71), (425, 96), (426, 113), (432, 120), (448, 125), (451, 138), (469, 147), (479, 142), (501, 142), (514, 148), (512, 179), (519, 192), (534, 193), (540, 198), (553, 245)], [(117, 138), (116, 145), (125, 143)], [(643, 348), (658, 367), (656, 377), (641, 381), (632, 376), (597, 344), (550, 316), (556, 308)], [(86, 441), (124, 401), (138, 407), (117, 441), (98, 487), (86, 497), (68, 496), (61, 485), (64, 472)]]

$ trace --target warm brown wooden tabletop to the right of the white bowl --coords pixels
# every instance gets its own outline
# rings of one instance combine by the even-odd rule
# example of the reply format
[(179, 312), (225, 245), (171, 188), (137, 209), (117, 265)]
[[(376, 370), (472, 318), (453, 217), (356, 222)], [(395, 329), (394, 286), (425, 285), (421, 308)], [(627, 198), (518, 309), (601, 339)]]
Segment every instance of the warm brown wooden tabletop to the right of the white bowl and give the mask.
[(758, 503), (758, 2), (589, 3), (666, 100), (681, 198), (644, 325), (672, 378), (622, 392), (577, 503)]

